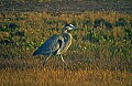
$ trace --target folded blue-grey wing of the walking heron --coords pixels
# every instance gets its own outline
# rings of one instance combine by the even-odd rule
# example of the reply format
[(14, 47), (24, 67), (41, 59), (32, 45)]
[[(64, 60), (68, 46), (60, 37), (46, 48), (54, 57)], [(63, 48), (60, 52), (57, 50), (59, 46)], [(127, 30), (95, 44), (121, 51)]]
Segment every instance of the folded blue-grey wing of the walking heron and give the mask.
[(44, 44), (42, 44), (33, 55), (53, 55), (63, 47), (64, 39), (61, 35), (53, 35)]

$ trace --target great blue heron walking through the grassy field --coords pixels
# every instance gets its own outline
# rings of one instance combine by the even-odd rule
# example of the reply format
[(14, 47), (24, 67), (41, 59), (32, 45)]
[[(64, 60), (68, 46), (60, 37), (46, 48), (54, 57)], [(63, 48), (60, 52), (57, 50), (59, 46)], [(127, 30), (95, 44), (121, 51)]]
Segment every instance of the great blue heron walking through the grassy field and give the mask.
[(51, 55), (59, 55), (63, 63), (67, 65), (63, 58), (63, 53), (68, 50), (68, 47), (72, 44), (72, 34), (68, 33), (68, 31), (76, 30), (77, 28), (73, 24), (66, 24), (63, 30), (62, 34), (59, 35), (53, 35), (50, 39), (47, 39), (46, 42), (44, 42), (34, 53), (34, 55), (48, 55), (43, 66), (46, 64), (46, 61), (50, 58)]

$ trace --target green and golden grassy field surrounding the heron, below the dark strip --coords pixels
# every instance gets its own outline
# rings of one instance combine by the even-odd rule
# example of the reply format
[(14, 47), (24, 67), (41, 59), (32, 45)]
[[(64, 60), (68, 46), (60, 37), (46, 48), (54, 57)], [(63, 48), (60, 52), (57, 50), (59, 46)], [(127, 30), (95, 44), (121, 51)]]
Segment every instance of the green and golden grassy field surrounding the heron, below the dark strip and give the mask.
[[(131, 86), (132, 14), (127, 12), (2, 11), (0, 86)], [(63, 54), (69, 67), (59, 56), (42, 67), (46, 56), (33, 52), (66, 23), (78, 28)]]

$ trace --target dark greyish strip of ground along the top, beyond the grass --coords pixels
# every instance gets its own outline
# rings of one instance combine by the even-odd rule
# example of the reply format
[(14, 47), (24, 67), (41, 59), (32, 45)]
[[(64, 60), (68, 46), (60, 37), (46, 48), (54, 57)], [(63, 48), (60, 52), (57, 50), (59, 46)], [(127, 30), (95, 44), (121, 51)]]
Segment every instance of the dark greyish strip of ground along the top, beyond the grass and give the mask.
[(84, 12), (84, 11), (116, 11), (132, 13), (131, 0), (62, 0), (62, 1), (38, 1), (38, 0), (2, 0), (0, 2), (0, 12)]

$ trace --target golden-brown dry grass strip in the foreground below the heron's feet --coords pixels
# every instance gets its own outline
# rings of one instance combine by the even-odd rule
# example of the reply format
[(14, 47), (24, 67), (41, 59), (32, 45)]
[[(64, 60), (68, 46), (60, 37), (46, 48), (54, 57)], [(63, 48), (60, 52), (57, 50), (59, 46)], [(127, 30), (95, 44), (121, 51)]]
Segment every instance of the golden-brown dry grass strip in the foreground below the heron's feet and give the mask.
[(53, 68), (1, 69), (1, 86), (131, 86), (130, 73)]

